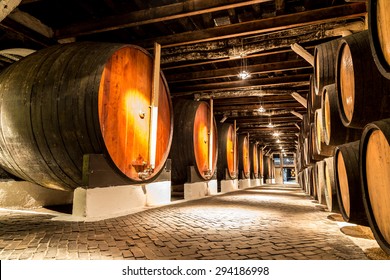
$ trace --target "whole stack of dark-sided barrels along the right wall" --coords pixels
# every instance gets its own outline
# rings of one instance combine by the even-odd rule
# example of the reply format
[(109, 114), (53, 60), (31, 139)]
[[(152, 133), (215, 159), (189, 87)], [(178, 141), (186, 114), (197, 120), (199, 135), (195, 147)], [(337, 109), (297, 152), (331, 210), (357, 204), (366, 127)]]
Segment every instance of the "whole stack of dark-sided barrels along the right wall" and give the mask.
[[(321, 202), (325, 198), (329, 210), (338, 208), (345, 221), (369, 225), (387, 253), (390, 253), (389, 9), (389, 1), (370, 1), (369, 30), (316, 47), (314, 91), (321, 96), (321, 107), (316, 109), (317, 95), (310, 92), (297, 156), (302, 188), (313, 196), (317, 194)], [(324, 48), (332, 55), (321, 61)], [(315, 111), (313, 122), (316, 133), (309, 130), (313, 110), (319, 110)], [(317, 153), (310, 147), (313, 137), (317, 137), (314, 141)], [(322, 153), (323, 149), (329, 154)], [(322, 163), (318, 156), (325, 157)], [(310, 179), (313, 173), (316, 180)], [(315, 187), (317, 193), (313, 192)]]

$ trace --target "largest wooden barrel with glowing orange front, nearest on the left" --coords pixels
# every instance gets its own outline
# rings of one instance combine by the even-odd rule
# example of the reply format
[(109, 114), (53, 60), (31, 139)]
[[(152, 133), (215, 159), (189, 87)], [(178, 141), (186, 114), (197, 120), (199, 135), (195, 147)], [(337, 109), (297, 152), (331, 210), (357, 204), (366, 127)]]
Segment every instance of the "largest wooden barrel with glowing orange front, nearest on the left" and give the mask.
[(1, 165), (44, 187), (73, 190), (83, 185), (83, 156), (103, 154), (125, 181), (153, 180), (168, 157), (173, 122), (161, 73), (149, 168), (152, 73), (152, 57), (123, 44), (56, 45), (14, 63), (0, 74)]

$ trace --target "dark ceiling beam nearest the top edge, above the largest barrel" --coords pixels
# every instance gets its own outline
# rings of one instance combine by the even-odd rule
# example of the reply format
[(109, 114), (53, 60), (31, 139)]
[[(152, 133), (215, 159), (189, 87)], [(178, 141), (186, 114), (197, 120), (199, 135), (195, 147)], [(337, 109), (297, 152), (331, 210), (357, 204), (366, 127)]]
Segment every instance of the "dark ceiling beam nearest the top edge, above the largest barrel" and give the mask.
[(55, 36), (60, 39), (77, 37), (81, 35), (158, 23), (161, 21), (180, 19), (269, 1), (271, 0), (187, 0), (180, 3), (135, 11), (123, 15), (115, 15), (75, 23), (56, 30)]

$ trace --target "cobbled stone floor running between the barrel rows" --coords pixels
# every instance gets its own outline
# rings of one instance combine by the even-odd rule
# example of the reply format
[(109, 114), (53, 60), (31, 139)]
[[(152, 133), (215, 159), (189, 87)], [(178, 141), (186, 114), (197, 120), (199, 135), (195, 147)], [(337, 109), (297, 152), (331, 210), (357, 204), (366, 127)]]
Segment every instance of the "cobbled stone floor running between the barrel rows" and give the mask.
[(0, 259), (367, 259), (297, 185), (255, 187), (95, 222), (0, 211)]

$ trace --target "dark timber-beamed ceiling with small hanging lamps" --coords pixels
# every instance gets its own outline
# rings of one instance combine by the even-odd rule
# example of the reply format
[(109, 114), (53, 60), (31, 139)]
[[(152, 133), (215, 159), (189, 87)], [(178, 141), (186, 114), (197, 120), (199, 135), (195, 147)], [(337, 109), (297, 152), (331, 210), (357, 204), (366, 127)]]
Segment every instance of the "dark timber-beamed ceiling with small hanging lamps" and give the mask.
[[(363, 2), (363, 3), (362, 3)], [(291, 48), (314, 47), (365, 28), (364, 1), (3, 0), (1, 50), (74, 41), (162, 46), (172, 97), (214, 99), (217, 120), (237, 120), (272, 152), (295, 151), (313, 67)], [(1, 52), (0, 68), (23, 53)], [(247, 79), (238, 74), (243, 69)], [(264, 112), (259, 111), (263, 107)], [(274, 127), (268, 126), (272, 122)], [(279, 141), (273, 134), (277, 131)]]

